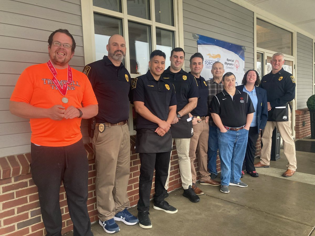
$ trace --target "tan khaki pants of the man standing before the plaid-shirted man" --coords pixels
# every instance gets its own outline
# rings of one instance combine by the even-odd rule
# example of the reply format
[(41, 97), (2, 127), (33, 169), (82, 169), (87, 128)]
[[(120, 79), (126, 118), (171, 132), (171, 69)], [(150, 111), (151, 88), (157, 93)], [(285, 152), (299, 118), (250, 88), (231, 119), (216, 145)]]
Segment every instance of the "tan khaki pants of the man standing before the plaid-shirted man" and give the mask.
[(192, 183), (196, 183), (197, 174), (194, 166), (196, 159), (196, 149), (198, 147), (198, 167), (200, 173), (200, 181), (210, 180), (210, 174), (207, 171), (207, 160), (208, 160), (208, 138), (209, 138), (209, 123), (205, 120), (200, 121), (196, 125), (192, 125), (194, 129), (194, 135), (190, 138), (189, 145), (189, 157), (192, 171)]

